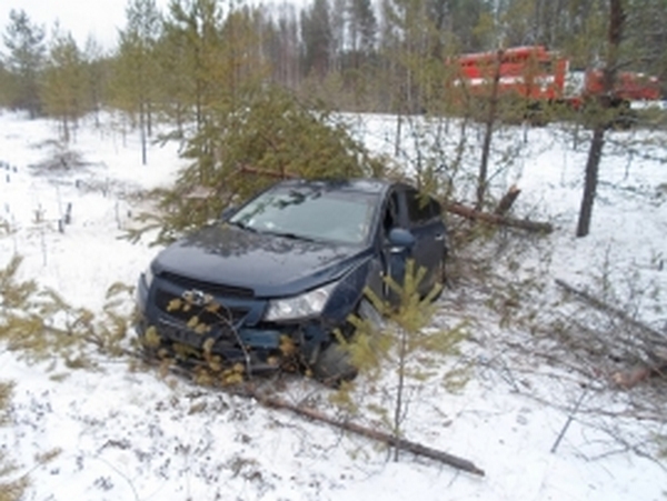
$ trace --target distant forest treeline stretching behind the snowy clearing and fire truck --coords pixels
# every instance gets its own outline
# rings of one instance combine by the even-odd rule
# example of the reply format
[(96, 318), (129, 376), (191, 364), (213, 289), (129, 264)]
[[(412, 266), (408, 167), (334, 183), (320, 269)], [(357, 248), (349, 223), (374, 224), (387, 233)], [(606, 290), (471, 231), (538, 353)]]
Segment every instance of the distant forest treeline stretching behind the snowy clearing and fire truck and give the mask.
[[(624, 0), (618, 68), (667, 81), (667, 0)], [(544, 44), (588, 68), (608, 58), (607, 0), (311, 0), (251, 6), (129, 0), (113, 49), (67, 27), (47, 37), (13, 10), (3, 33), (0, 106), (58, 118), (67, 134), (93, 110), (195, 122), (280, 86), (346, 111), (446, 112), (447, 58)]]

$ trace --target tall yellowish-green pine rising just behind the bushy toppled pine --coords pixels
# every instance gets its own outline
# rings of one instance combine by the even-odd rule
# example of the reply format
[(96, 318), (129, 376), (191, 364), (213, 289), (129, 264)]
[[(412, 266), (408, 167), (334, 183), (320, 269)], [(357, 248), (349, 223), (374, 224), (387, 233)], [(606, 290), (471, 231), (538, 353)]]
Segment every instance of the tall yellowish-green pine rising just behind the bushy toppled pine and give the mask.
[[(201, 162), (202, 182), (213, 164), (218, 128), (245, 110), (270, 77), (259, 36), (260, 11), (240, 8), (223, 17), (217, 6), (212, 0), (189, 6), (173, 1), (159, 48), (160, 60), (171, 60), (167, 68), (172, 74), (165, 74), (165, 82), (171, 91), (170, 110), (178, 113), (177, 134), (198, 138), (189, 154)], [(189, 134), (180, 126), (186, 122), (195, 124)]]

